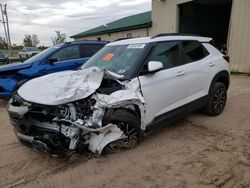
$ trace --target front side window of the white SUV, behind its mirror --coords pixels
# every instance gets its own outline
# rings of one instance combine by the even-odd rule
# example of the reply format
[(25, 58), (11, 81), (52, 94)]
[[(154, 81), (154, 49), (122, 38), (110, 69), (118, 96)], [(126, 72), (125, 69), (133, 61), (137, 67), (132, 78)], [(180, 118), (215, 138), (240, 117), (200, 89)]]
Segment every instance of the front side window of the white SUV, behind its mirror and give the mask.
[(158, 43), (153, 49), (149, 61), (160, 61), (163, 69), (181, 65), (178, 42)]

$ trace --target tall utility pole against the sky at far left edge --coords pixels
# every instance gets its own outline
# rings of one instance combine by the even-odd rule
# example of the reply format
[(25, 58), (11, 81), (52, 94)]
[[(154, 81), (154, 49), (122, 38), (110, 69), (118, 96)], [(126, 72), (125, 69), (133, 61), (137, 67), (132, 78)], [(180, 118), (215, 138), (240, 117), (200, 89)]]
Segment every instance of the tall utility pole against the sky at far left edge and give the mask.
[(1, 7), (1, 13), (2, 13), (2, 23), (4, 27), (4, 33), (5, 33), (6, 41), (8, 44), (8, 52), (10, 56), (11, 40), (10, 40), (9, 20), (8, 20), (8, 14), (7, 14), (7, 4), (5, 5), (0, 4), (0, 7)]

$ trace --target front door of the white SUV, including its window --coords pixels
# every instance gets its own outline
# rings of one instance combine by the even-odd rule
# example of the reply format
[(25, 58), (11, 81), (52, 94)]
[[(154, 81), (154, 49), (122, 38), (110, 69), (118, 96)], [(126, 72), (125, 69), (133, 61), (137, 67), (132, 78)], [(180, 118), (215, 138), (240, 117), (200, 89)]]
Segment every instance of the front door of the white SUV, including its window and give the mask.
[(157, 43), (149, 61), (160, 61), (163, 69), (156, 73), (139, 76), (141, 90), (146, 101), (146, 120), (154, 118), (185, 104), (187, 82), (185, 67), (180, 58), (179, 42)]

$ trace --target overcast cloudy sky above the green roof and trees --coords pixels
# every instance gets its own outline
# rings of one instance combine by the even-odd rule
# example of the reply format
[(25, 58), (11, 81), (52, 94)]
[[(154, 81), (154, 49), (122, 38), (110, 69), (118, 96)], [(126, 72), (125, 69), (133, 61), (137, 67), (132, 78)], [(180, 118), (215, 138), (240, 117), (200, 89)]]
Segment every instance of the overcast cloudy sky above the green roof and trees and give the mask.
[[(67, 36), (114, 20), (151, 10), (151, 0), (0, 0), (7, 3), (12, 44), (25, 34), (38, 35), (39, 45), (51, 46), (55, 31)], [(4, 37), (0, 22), (0, 36)]]

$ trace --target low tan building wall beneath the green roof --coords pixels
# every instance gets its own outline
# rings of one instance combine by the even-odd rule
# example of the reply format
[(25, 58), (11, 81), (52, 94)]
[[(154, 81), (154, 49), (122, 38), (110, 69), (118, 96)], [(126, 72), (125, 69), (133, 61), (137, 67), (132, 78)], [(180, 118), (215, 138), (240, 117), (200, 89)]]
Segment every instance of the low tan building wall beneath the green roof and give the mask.
[(77, 38), (76, 40), (97, 40), (98, 37), (101, 37), (101, 39), (105, 41), (114, 41), (119, 38), (126, 38), (128, 33), (131, 33), (132, 37), (146, 37), (148, 36), (149, 30), (150, 28), (134, 29), (134, 30), (111, 33), (110, 36), (108, 34), (103, 34), (103, 35)]

